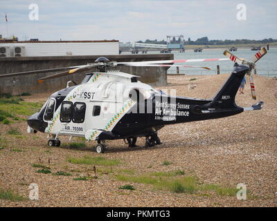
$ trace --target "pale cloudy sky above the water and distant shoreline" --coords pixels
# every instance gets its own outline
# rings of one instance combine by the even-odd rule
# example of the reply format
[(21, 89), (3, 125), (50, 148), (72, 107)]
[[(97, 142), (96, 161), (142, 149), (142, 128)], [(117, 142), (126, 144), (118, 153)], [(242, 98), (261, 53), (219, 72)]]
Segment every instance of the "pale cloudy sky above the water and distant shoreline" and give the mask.
[(276, 10), (276, 0), (0, 0), (0, 35), (21, 41), (277, 39)]

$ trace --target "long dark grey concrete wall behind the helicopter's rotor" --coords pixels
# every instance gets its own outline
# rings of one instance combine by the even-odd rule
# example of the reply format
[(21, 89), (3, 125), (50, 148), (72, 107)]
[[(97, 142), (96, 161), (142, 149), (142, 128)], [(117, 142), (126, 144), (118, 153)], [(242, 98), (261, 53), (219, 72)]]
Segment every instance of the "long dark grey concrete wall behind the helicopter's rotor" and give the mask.
[[(48, 68), (60, 68), (66, 66), (77, 66), (82, 64), (93, 63), (98, 57), (89, 56), (53, 56), (53, 57), (6, 57), (0, 58), (0, 75), (8, 73), (19, 73), (30, 70), (43, 70)], [(110, 61), (154, 61), (174, 59), (172, 54), (167, 55), (107, 55)], [(140, 81), (152, 86), (164, 86), (167, 84), (166, 67), (132, 67), (120, 66), (120, 71), (132, 75), (138, 75)], [(95, 70), (96, 71), (96, 70)], [(19, 95), (21, 93), (45, 93), (55, 92), (56, 90), (66, 87), (66, 82), (73, 80), (80, 83), (84, 73), (67, 75), (56, 79), (49, 79), (44, 83), (37, 83), (37, 79), (52, 75), (53, 73), (28, 74), (18, 77), (0, 78), (0, 93), (11, 93)]]

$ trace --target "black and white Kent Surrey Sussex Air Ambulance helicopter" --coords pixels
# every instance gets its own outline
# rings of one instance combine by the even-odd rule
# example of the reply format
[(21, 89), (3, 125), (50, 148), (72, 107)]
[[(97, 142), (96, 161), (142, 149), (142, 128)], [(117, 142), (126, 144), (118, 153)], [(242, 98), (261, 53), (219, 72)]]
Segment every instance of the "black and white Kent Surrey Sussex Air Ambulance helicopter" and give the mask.
[[(69, 86), (48, 97), (40, 110), (28, 117), (28, 133), (47, 133), (48, 146), (60, 146), (60, 136), (85, 137), (87, 142), (96, 141), (97, 153), (105, 153), (106, 140), (127, 140), (129, 147), (136, 146), (138, 137), (145, 137), (145, 146), (162, 144), (158, 131), (169, 124), (196, 122), (237, 115), (243, 111), (260, 110), (263, 102), (249, 107), (235, 104), (235, 95), (244, 78), (251, 77), (251, 70), (256, 61), (267, 53), (262, 48), (252, 61), (240, 59), (228, 50), (222, 59), (183, 59), (163, 61), (109, 61), (99, 57), (92, 64), (33, 70), (24, 73), (0, 75), (10, 77), (28, 73), (47, 73), (63, 70), (38, 79), (39, 83), (47, 79), (71, 75), (88, 70), (81, 84)], [(234, 61), (231, 75), (211, 99), (197, 99), (167, 95), (148, 84), (139, 81), (139, 76), (113, 70), (116, 66), (183, 66), (198, 67), (210, 70), (204, 66), (184, 66), (175, 63), (196, 61)], [(98, 68), (98, 72), (91, 72)], [(252, 98), (256, 99), (255, 86), (251, 77)]]

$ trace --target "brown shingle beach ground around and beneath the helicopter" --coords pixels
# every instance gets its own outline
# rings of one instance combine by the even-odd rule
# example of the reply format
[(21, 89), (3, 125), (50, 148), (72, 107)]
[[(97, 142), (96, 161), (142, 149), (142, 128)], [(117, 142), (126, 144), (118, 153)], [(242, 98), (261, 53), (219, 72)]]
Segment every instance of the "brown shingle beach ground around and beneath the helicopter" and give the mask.
[[(228, 75), (203, 75), (189, 81), (192, 76), (170, 76), (168, 86), (161, 89), (176, 89), (180, 96), (209, 98), (226, 77)], [(145, 184), (133, 184), (135, 191), (120, 190), (118, 187), (127, 183), (117, 181), (111, 174), (75, 181), (73, 177), (89, 175), (91, 171), (89, 166), (66, 162), (66, 158), (99, 154), (90, 148), (49, 148), (45, 134), (28, 134), (26, 122), (21, 122), (11, 126), (18, 127), (23, 138), (8, 135), (10, 125), (0, 127), (1, 136), (8, 140), (0, 151), (0, 187), (18, 191), (28, 198), (28, 185), (36, 183), (39, 200), (0, 200), (0, 206), (277, 206), (277, 80), (255, 76), (255, 82), (257, 100), (265, 102), (261, 111), (166, 126), (159, 132), (163, 142), (160, 146), (144, 148), (143, 138), (138, 140), (139, 147), (133, 149), (127, 148), (121, 140), (112, 141), (108, 143), (109, 151), (102, 155), (123, 162), (117, 169), (140, 173), (182, 169), (208, 184), (235, 188), (244, 183), (253, 198), (238, 200), (235, 196), (217, 194), (170, 193)], [(188, 84), (197, 87), (188, 90)], [(24, 97), (32, 102), (44, 102), (46, 98), (47, 95)], [(256, 103), (251, 99), (249, 84), (244, 95), (237, 95), (236, 102), (239, 106)], [(14, 148), (23, 151), (12, 151)], [(163, 161), (172, 164), (162, 166)], [(71, 172), (71, 176), (35, 173), (37, 168), (33, 164), (46, 164), (53, 172), (75, 172)]]

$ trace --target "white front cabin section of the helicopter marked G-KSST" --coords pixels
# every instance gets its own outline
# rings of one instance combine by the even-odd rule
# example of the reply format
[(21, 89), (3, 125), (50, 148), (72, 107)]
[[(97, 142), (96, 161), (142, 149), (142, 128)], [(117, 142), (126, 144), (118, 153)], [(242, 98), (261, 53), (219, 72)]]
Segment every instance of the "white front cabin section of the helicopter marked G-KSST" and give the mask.
[(61, 104), (57, 102), (58, 92), (51, 95), (43, 115), (47, 123), (44, 132), (85, 137), (89, 141), (96, 140), (103, 131), (112, 131), (136, 104), (136, 99), (130, 97), (132, 90), (148, 95), (156, 91), (136, 77), (118, 71), (93, 73), (87, 82), (73, 86)]

